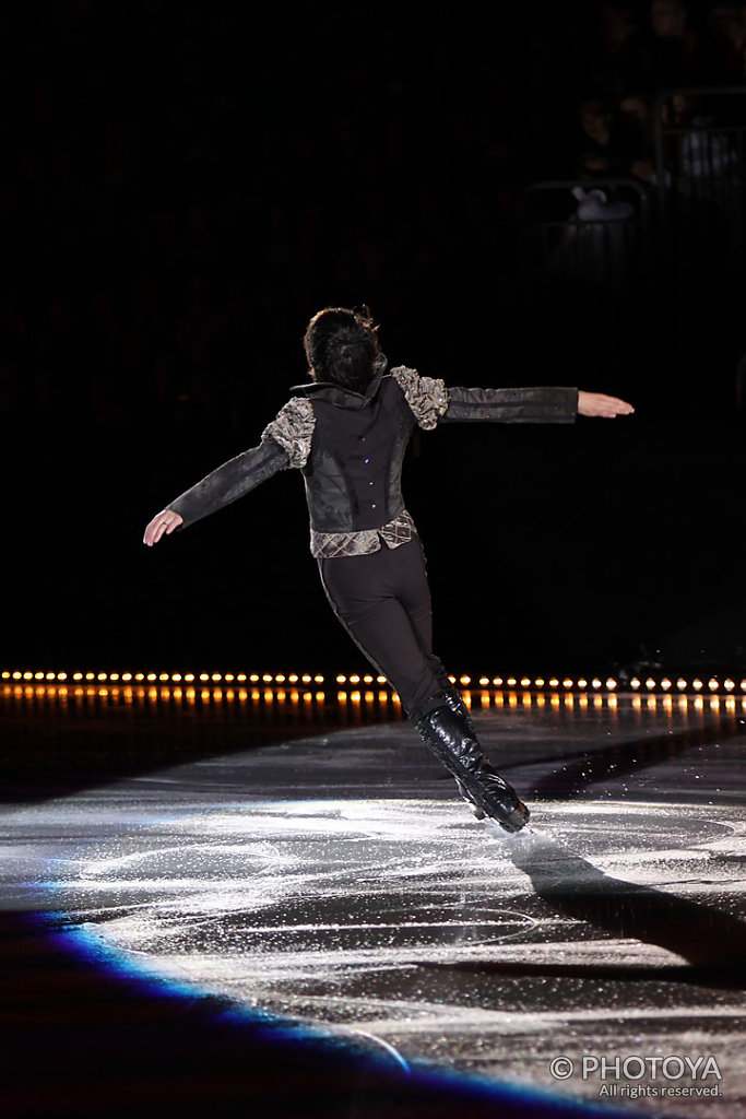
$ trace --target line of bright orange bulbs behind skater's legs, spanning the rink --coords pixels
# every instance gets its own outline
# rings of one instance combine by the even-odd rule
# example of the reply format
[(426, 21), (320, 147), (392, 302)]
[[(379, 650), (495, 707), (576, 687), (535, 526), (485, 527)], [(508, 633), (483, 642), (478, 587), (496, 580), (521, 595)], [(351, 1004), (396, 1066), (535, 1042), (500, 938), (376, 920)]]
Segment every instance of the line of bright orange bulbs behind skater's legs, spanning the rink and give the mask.
[[(620, 683), (616, 679), (607, 678), (605, 680), (595, 676), (587, 679), (583, 676), (577, 679), (572, 679), (569, 677), (560, 678), (558, 676), (551, 676), (545, 678), (542, 676), (537, 676), (535, 678), (522, 676), (451, 676), (448, 677), (452, 684), (459, 684), (465, 688), (508, 688), (510, 690), (516, 688), (521, 688), (523, 690), (538, 688), (539, 690), (544, 688), (564, 688), (565, 690), (594, 690), (599, 692), (605, 689), (606, 692), (614, 692), (620, 687)], [(276, 685), (311, 685), (311, 684), (324, 684), (332, 683), (330, 678), (327, 678), (321, 674), (317, 673), (53, 673), (53, 671), (29, 671), (17, 669), (15, 671), (3, 670), (0, 673), (0, 679), (3, 680), (38, 680), (38, 681), (59, 681), (66, 683), (72, 681), (74, 684), (78, 683), (98, 683), (98, 684), (193, 684), (193, 685), (223, 685), (223, 684), (262, 684), (265, 687), (273, 687)], [(372, 685), (386, 684), (385, 676), (358, 676), (352, 674), (350, 676), (342, 673), (333, 677), (333, 683), (340, 686), (352, 685), (357, 687), (359, 685)], [(652, 676), (641, 679), (639, 677), (633, 677), (629, 681), (629, 687), (633, 692), (648, 690), (648, 692), (712, 692), (717, 693), (720, 689), (725, 692), (746, 692), (746, 679), (739, 681), (727, 677), (724, 680), (719, 680), (717, 677), (712, 676), (709, 679), (700, 679), (695, 677), (693, 679), (684, 679), (679, 676), (677, 679), (671, 679), (669, 677), (662, 677), (661, 679), (655, 679)]]

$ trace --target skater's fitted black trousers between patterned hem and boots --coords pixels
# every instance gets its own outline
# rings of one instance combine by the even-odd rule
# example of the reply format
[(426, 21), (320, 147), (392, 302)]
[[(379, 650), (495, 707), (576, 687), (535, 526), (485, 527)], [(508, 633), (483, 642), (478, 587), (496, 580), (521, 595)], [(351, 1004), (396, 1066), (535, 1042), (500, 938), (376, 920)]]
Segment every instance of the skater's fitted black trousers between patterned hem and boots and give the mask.
[(433, 655), (433, 613), (425, 556), (417, 538), (381, 544), (367, 556), (319, 560), (327, 598), (374, 668), (398, 693), (407, 714), (443, 687)]

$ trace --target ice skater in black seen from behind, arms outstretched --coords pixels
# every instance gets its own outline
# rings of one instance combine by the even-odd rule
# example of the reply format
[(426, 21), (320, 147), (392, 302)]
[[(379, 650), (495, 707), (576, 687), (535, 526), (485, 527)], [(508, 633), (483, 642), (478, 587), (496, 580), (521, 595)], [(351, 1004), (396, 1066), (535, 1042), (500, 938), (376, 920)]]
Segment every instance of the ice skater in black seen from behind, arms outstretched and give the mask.
[(332, 610), (398, 693), (476, 818), (518, 831), (529, 810), (484, 755), (469, 711), (433, 652), (425, 558), (402, 497), (404, 454), (415, 426), (573, 423), (578, 414), (611, 419), (634, 410), (614, 396), (577, 388), (457, 388), (405, 366), (387, 372), (367, 309), (319, 311), (303, 342), (310, 383), (291, 389), (258, 446), (157, 514), (144, 543), (195, 524), (278, 470), (301, 470), (311, 552)]

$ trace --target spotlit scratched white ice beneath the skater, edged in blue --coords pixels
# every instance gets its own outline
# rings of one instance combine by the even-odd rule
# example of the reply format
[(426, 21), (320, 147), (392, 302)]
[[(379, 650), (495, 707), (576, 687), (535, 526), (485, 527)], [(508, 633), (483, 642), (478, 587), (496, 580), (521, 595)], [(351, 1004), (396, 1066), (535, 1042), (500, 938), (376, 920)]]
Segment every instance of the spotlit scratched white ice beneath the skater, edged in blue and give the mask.
[[(684, 721), (663, 750), (631, 706), (603, 717), (565, 714), (551, 744), (523, 713), (508, 723), (525, 734), (509, 777), (535, 793), (517, 836), (474, 821), (406, 726), (346, 730), (318, 758), (305, 740), (19, 809), (4, 896), (44, 881), (50, 908), (138, 966), (393, 1060), (744, 1113), (743, 742), (702, 756)], [(506, 718), (482, 725), (489, 740)], [(584, 1055), (644, 1073), (583, 1076)], [(721, 1079), (662, 1076), (663, 1059), (708, 1055)]]

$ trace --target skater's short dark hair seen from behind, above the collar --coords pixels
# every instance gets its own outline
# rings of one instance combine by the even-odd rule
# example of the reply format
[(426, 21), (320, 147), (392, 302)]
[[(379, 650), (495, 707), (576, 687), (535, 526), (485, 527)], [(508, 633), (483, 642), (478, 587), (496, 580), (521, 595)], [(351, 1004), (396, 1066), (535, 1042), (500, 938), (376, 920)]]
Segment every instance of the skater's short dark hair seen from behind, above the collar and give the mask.
[(309, 322), (303, 346), (314, 380), (362, 393), (385, 358), (368, 308), (327, 307)]

